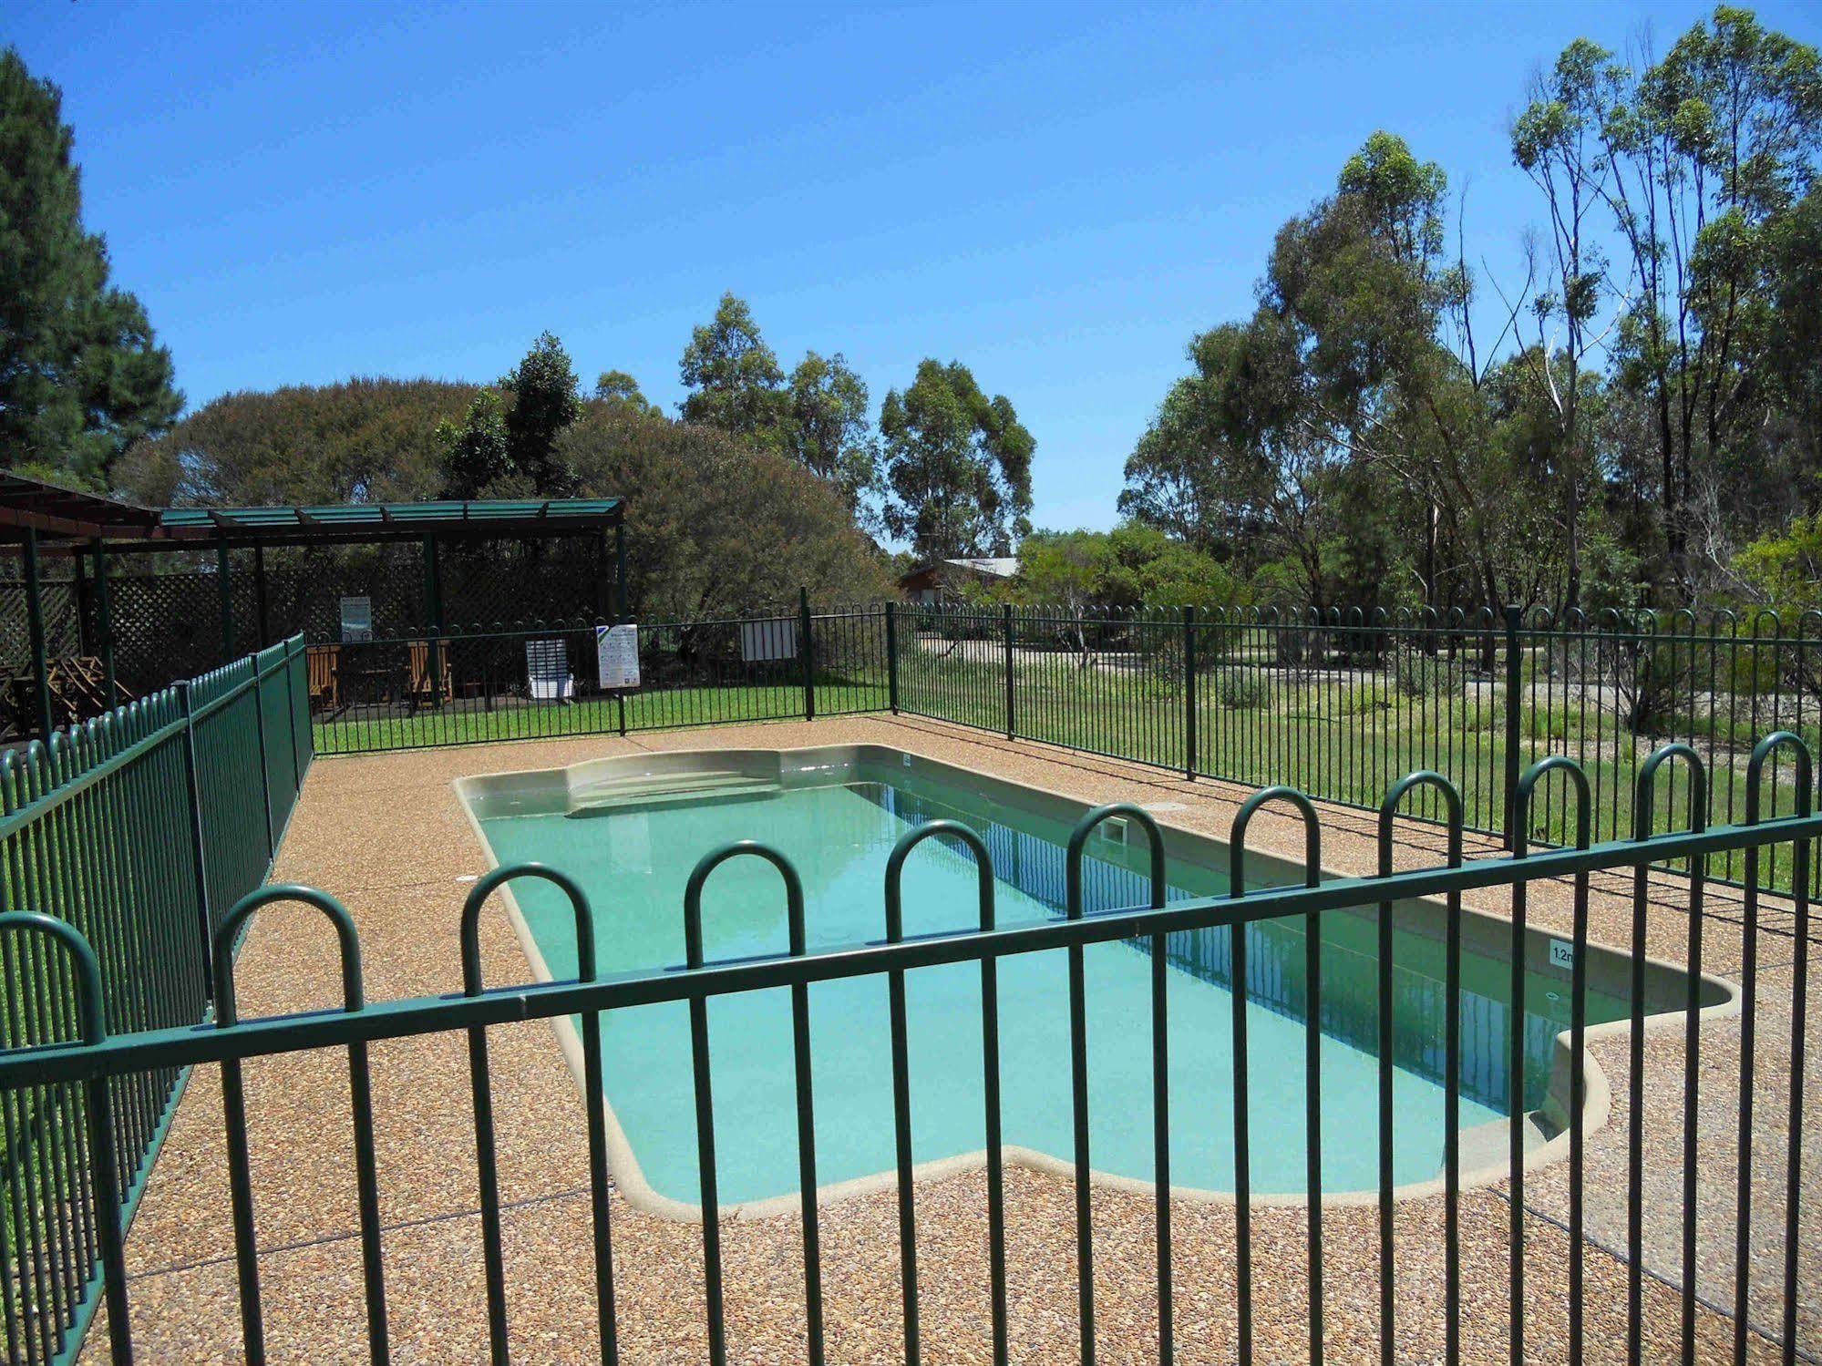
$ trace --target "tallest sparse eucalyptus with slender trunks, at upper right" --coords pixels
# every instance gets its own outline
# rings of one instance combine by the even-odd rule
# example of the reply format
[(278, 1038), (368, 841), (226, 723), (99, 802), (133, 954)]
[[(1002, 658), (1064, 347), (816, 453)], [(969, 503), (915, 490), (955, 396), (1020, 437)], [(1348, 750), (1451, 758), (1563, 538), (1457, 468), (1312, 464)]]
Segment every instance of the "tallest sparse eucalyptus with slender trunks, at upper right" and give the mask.
[(1578, 40), (1558, 73), (1516, 148), (1521, 164), (1534, 146), (1554, 155), (1541, 182), (1552, 217), (1580, 184), (1609, 219), (1618, 260), (1598, 279), (1616, 319), (1614, 379), (1649, 413), (1663, 568), (1689, 592), (1702, 495), (1727, 501), (1729, 452), (1766, 417), (1755, 395), (1776, 335), (1762, 326), (1767, 251), (1815, 180), (1822, 60), (1720, 5), (1643, 67)]

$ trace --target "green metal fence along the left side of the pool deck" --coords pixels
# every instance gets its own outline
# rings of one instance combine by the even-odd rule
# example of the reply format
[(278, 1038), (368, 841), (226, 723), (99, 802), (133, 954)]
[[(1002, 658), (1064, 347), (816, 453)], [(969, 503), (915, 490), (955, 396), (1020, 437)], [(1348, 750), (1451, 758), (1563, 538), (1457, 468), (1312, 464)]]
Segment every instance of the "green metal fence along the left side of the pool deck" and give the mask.
[[(0, 754), (0, 909), (55, 918), (0, 942), (7, 1055), (77, 1031), (195, 1025), (228, 909), (271, 865), (304, 772), (301, 636)], [(102, 1249), (151, 1169), (184, 1065), (0, 1093), (0, 1319), (7, 1359), (62, 1359)]]

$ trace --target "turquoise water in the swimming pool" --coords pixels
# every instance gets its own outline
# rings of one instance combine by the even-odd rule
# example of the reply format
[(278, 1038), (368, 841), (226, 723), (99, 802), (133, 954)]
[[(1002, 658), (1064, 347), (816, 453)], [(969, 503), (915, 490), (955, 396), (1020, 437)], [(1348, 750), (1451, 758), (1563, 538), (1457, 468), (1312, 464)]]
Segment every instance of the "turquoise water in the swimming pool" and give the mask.
[[(787, 854), (804, 878), (809, 947), (884, 938), (882, 878), (891, 845), (926, 820), (949, 816), (980, 831), (993, 851), (1002, 925), (1062, 912), (1066, 827), (978, 794), (896, 769), (834, 770), (818, 787), (736, 798), (654, 798), (594, 812), (492, 816), (481, 825), (503, 863), (541, 860), (567, 869), (596, 909), (603, 973), (683, 960), (683, 885), (696, 860), (738, 838)], [(1137, 838), (1137, 832), (1135, 832)], [(1137, 851), (1091, 858), (1090, 909), (1142, 903), (1128, 863)], [(1172, 898), (1226, 891), (1224, 872), (1172, 869)], [(975, 871), (966, 854), (924, 843), (906, 865), (906, 933), (975, 923)], [(554, 976), (574, 976), (567, 902), (523, 882), (521, 911)], [(783, 889), (760, 860), (734, 860), (703, 894), (705, 953), (742, 958), (783, 953)], [(1305, 1189), (1305, 982), (1301, 920), (1248, 931), (1248, 1073), (1255, 1193)], [(1228, 933), (1172, 936), (1170, 1104), (1172, 1180), (1232, 1189), (1232, 996)], [(1399, 1184), (1436, 1177), (1443, 1155), (1441, 947), (1397, 933), (1394, 1173)], [(1461, 1124), (1503, 1115), (1510, 1009), (1505, 963), (1463, 962)], [(1068, 982), (1060, 951), (1000, 962), (1004, 1140), (1068, 1160), (1071, 1104)], [(1086, 953), (1091, 1160), (1099, 1171), (1152, 1178), (1150, 949), (1117, 942)], [(1541, 1102), (1551, 1047), (1567, 1025), (1560, 978), (1527, 985), (1527, 1107)], [(984, 1147), (980, 969), (975, 963), (907, 974), (911, 1127), (918, 1162)], [(895, 1164), (885, 978), (816, 984), (809, 991), (814, 1056), (818, 1180), (834, 1184)], [(1328, 1191), (1377, 1180), (1374, 925), (1359, 914), (1325, 922), (1323, 1180)], [(1625, 1004), (1591, 993), (1589, 1018), (1620, 1018)], [(783, 989), (709, 1002), (716, 1155), (723, 1202), (796, 1191), (796, 1111), (791, 1011)], [(609, 1102), (647, 1184), (698, 1198), (689, 1016), (683, 1004), (603, 1016)]]

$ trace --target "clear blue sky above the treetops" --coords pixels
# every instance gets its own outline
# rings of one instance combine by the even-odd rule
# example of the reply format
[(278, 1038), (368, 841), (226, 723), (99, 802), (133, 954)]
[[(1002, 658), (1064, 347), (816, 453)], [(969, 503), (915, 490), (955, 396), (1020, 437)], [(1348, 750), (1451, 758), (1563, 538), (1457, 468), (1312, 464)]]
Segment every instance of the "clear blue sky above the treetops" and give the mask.
[[(191, 408), (352, 373), (494, 379), (543, 330), (681, 397), (722, 290), (789, 366), (960, 359), (1037, 437), (1040, 526), (1106, 526), (1190, 335), (1388, 127), (1512, 282), (1505, 129), (1574, 36), (1698, 4), (809, 5), (13, 0), (91, 228)], [(1817, 9), (1758, 5), (1815, 42)]]

